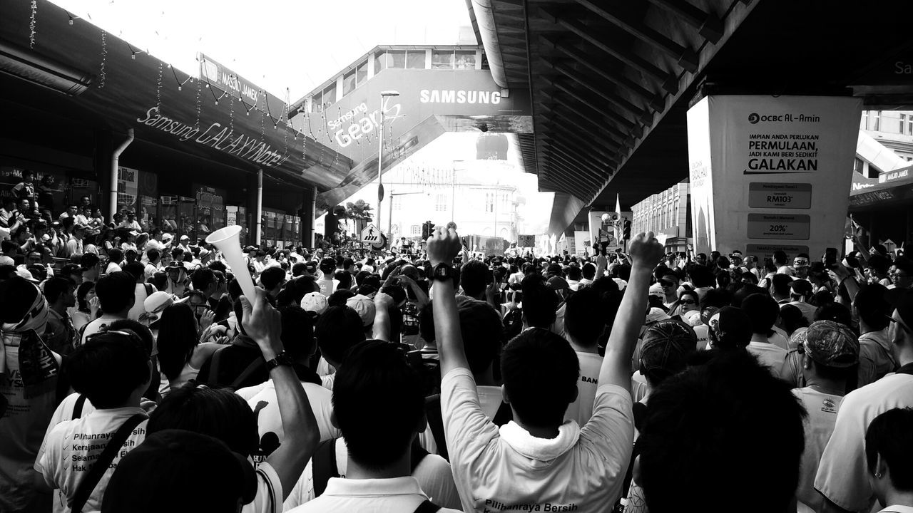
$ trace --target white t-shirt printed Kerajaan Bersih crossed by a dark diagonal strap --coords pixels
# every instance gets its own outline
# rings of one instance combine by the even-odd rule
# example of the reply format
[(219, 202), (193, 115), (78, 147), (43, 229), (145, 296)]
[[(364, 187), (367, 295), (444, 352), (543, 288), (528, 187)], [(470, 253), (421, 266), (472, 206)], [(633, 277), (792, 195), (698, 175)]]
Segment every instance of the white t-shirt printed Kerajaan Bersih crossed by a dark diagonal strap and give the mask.
[[(101, 455), (110, 434), (116, 432), (132, 415), (142, 413), (142, 408), (137, 407), (96, 410), (77, 420), (63, 421), (55, 425), (41, 443), (35, 460), (35, 470), (44, 476), (48, 487), (59, 488), (65, 497), (73, 497), (79, 482), (91, 468), (89, 462)], [(142, 421), (127, 437), (123, 444), (124, 450), (114, 456), (110, 468), (101, 476), (98, 486), (89, 495), (89, 500), (82, 508), (84, 512), (101, 509), (101, 498), (104, 497), (105, 487), (108, 486), (111, 475), (114, 474), (121, 457), (146, 439), (147, 423), (146, 420)], [(69, 508), (64, 504), (59, 510), (67, 512)]]

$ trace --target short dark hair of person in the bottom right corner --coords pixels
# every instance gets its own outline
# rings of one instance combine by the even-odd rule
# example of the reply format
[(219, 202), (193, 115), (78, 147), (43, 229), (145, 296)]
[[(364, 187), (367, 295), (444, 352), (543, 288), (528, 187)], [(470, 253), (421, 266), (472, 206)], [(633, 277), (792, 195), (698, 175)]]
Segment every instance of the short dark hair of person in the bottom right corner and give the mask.
[(878, 456), (885, 461), (891, 485), (913, 491), (913, 408), (894, 408), (880, 414), (866, 430), (868, 472), (877, 471)]

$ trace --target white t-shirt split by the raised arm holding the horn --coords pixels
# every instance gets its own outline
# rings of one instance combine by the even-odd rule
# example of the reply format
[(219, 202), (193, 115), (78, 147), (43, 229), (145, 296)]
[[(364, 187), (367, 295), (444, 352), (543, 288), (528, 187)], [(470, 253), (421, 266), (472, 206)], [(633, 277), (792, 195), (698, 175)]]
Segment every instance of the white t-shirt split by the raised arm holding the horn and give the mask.
[[(333, 412), (333, 393), (319, 384), (302, 382), (301, 387), (308, 394), (310, 409), (317, 419), (320, 429), (320, 440), (329, 440), (341, 436), (339, 428), (330, 422)], [(282, 429), (282, 417), (279, 415), (279, 404), (276, 398), (276, 386), (273, 380), (262, 382), (258, 385), (242, 388), (237, 394), (247, 401), (250, 409), (257, 415), (257, 435), (262, 437), (267, 433), (275, 433), (279, 443), (285, 440), (285, 430)]]

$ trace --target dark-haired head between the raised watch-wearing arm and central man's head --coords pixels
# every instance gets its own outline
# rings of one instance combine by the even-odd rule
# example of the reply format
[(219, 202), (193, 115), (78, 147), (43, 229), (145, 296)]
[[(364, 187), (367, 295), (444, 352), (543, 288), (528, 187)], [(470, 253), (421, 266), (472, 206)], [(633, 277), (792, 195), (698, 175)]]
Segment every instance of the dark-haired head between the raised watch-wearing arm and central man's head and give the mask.
[(456, 313), (469, 371), (474, 375), (488, 371), (501, 350), (500, 315), (487, 302), (477, 299), (460, 303)]

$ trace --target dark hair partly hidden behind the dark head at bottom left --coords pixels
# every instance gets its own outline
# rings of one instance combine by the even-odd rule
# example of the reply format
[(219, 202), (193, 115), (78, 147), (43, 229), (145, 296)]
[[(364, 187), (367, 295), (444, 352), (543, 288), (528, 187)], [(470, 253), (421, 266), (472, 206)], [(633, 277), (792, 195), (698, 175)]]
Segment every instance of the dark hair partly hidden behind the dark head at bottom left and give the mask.
[(257, 416), (240, 395), (227, 388), (189, 382), (164, 396), (149, 417), (146, 433), (184, 429), (224, 442), (245, 457), (259, 446)]

